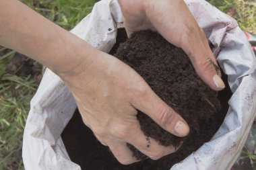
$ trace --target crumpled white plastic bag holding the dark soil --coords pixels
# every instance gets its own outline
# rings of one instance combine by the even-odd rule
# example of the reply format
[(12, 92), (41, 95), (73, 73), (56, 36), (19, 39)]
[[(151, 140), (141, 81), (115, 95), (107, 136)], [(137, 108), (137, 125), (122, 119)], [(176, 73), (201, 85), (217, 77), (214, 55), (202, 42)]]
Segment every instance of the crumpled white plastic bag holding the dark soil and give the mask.
[[(197, 151), (170, 167), (178, 169), (230, 169), (241, 153), (256, 110), (256, 59), (245, 34), (234, 19), (206, 1), (185, 1), (199, 26), (214, 45), (220, 67), (233, 92), (220, 129)], [(98, 50), (109, 52), (115, 44), (122, 14), (117, 0), (96, 3), (92, 13), (71, 30)], [(65, 83), (46, 70), (31, 101), (24, 130), (23, 161), (27, 170), (80, 170), (71, 162), (61, 132), (77, 107)], [(86, 161), (86, 160), (85, 160)]]

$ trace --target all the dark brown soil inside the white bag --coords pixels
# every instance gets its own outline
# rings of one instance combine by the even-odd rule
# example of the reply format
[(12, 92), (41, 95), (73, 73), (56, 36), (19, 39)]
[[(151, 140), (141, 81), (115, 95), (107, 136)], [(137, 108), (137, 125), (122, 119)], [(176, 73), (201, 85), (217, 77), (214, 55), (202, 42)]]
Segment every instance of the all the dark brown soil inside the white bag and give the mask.
[[(124, 34), (124, 30), (119, 30), (117, 39), (122, 42)], [(117, 46), (118, 44), (119, 42)], [(117, 46), (110, 54), (115, 54)], [(125, 44), (121, 44), (115, 55), (135, 69), (156, 94), (185, 118), (191, 132), (186, 138), (178, 138), (165, 132), (148, 116), (139, 112), (137, 118), (146, 136), (158, 139), (165, 146), (178, 146), (183, 140), (183, 146), (176, 153), (158, 161), (146, 159), (133, 165), (121, 165), (108, 148), (96, 140), (91, 130), (84, 126), (76, 112), (62, 134), (73, 162), (82, 169), (167, 170), (212, 138), (226, 116), (230, 89), (226, 88), (219, 94), (212, 91), (197, 77), (181, 49), (152, 32), (140, 32), (133, 36)], [(216, 99), (217, 95), (222, 103), (222, 110)], [(129, 146), (135, 156), (141, 158), (141, 153)]]

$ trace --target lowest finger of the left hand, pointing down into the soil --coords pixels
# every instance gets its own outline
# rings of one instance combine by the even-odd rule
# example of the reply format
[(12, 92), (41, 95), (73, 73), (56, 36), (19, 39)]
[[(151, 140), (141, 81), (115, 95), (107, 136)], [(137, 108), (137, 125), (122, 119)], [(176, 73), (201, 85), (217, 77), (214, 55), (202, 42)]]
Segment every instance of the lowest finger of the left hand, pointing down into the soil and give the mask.
[(108, 142), (108, 147), (110, 148), (110, 151), (113, 153), (117, 161), (123, 165), (129, 165), (139, 161), (133, 157), (133, 153), (127, 147), (126, 142), (113, 139)]

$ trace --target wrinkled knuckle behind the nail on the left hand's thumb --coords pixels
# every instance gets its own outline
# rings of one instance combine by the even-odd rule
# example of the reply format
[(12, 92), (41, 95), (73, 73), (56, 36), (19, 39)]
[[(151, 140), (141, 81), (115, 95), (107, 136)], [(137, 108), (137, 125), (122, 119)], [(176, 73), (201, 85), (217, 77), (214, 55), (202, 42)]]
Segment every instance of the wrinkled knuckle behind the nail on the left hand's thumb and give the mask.
[(169, 106), (163, 106), (161, 112), (157, 115), (160, 125), (166, 127), (170, 122), (172, 122), (174, 117), (174, 111), (169, 108)]

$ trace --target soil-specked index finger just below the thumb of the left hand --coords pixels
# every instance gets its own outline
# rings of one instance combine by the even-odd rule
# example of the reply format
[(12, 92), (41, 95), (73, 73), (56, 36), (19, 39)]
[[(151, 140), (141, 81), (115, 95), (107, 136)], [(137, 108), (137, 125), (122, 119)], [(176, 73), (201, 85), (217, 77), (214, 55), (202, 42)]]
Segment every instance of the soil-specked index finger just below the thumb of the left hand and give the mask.
[(174, 148), (174, 146), (162, 146), (153, 138), (145, 136), (139, 125), (137, 128), (133, 129), (132, 132), (134, 137), (129, 136), (129, 138), (126, 139), (127, 142), (135, 146), (135, 148), (144, 155), (150, 157), (150, 159), (160, 159), (170, 153), (174, 153), (178, 149)]

